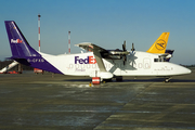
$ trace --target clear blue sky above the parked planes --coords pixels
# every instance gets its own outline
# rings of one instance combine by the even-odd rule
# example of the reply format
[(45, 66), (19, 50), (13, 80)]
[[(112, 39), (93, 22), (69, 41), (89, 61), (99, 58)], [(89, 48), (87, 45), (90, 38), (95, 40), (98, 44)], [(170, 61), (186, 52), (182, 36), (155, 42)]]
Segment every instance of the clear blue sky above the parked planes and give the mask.
[(164, 31), (171, 62), (195, 64), (195, 0), (2, 0), (0, 4), (0, 60), (11, 56), (4, 21), (15, 21), (38, 50), (38, 14), (41, 14), (41, 51), (80, 53), (74, 44), (92, 42), (105, 49), (134, 43), (147, 51)]

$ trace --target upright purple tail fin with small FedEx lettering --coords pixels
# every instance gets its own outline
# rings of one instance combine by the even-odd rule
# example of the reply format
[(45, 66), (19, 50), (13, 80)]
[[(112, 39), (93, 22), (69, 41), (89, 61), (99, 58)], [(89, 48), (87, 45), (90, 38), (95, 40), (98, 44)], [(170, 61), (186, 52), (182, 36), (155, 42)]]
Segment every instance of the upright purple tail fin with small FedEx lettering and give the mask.
[(23, 36), (14, 21), (5, 21), (5, 28), (12, 51), (12, 58), (23, 58), (25, 56), (41, 56), (34, 50)]

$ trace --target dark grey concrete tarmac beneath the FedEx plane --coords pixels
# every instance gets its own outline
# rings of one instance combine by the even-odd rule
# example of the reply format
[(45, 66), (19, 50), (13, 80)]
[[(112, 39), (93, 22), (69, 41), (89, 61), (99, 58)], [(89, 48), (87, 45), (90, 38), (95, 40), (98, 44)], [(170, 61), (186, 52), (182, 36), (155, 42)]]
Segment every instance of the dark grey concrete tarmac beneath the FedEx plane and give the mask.
[(191, 69), (170, 82), (125, 77), (92, 87), (89, 77), (1, 74), (0, 130), (195, 129)]

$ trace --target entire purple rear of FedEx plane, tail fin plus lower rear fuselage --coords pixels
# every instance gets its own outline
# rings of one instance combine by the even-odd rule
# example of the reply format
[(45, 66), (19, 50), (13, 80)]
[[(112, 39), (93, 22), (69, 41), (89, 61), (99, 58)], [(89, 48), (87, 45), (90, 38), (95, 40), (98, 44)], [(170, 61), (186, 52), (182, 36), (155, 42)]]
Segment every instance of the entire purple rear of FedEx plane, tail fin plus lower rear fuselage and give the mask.
[(27, 66), (62, 74), (56, 67), (42, 57), (23, 36), (14, 21), (5, 21), (5, 28), (10, 41), (13, 60)]

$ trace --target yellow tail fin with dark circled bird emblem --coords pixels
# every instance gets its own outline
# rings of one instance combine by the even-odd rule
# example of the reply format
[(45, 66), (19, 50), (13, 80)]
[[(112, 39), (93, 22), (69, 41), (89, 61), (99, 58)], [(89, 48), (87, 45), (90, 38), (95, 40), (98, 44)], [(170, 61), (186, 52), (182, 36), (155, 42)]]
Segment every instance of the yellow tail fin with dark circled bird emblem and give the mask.
[(162, 32), (160, 37), (147, 50), (148, 53), (165, 53), (170, 32)]

